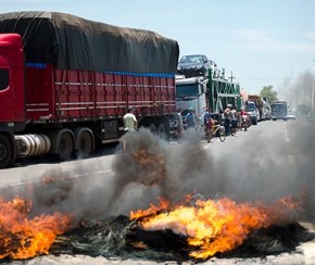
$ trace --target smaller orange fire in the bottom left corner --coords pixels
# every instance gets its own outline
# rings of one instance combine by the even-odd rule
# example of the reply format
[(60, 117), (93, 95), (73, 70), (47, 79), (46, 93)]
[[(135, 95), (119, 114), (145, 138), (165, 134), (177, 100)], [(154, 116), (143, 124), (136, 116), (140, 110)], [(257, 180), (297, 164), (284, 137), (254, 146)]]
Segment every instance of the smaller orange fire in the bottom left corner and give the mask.
[(29, 217), (32, 203), (16, 197), (11, 201), (0, 198), (0, 258), (29, 258), (48, 254), (58, 235), (62, 235), (72, 217), (53, 213)]

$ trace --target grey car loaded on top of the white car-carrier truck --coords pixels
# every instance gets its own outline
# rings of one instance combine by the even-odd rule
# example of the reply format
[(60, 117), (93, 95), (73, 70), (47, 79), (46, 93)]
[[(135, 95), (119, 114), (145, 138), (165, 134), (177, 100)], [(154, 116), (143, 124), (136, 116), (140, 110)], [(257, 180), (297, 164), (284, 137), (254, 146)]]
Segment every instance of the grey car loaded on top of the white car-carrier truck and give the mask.
[(177, 75), (186, 77), (203, 76), (209, 77), (209, 70), (212, 70), (213, 77), (216, 77), (218, 71), (214, 61), (209, 60), (204, 54), (184, 55), (180, 58), (177, 66)]

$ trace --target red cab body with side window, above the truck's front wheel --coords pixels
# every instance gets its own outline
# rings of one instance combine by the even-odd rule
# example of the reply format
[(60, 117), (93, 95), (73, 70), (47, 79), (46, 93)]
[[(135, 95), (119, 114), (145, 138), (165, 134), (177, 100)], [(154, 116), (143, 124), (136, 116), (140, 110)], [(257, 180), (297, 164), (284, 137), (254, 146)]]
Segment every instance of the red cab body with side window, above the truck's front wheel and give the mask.
[(24, 52), (17, 34), (0, 34), (0, 123), (25, 122)]

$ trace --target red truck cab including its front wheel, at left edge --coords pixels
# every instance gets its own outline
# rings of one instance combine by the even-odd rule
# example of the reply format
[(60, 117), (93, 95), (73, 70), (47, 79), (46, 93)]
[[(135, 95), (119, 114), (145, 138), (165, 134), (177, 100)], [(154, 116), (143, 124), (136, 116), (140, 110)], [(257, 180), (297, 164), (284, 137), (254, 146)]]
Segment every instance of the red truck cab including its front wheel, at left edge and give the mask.
[(0, 34), (0, 167), (14, 162), (14, 131), (24, 129), (24, 52), (18, 34)]

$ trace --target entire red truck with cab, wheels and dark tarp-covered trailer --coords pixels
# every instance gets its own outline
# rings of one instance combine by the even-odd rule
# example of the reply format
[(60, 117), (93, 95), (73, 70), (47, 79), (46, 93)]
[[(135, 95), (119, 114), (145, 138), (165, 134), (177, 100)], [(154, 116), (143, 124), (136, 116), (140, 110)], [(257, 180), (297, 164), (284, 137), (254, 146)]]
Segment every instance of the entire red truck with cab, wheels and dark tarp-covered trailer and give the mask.
[[(139, 127), (176, 128), (176, 40), (58, 12), (0, 14), (0, 167), (16, 157), (88, 156)], [(13, 78), (14, 77), (14, 78)]]

